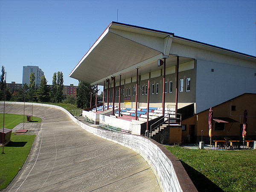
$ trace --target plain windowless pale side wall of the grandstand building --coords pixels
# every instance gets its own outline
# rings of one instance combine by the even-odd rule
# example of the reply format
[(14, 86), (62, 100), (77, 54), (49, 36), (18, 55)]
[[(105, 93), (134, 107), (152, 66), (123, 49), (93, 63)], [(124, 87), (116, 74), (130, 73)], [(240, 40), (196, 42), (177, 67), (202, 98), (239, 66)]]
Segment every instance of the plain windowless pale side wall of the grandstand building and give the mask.
[(256, 69), (197, 60), (196, 73), (195, 113), (243, 93), (256, 93)]

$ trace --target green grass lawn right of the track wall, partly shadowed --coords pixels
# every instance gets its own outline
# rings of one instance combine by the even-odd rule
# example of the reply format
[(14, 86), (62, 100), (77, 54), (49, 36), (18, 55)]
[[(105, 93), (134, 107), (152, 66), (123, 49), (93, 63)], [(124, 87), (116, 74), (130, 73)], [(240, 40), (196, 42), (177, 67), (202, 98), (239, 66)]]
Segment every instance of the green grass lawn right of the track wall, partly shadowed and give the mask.
[(256, 150), (200, 150), (166, 146), (198, 191), (256, 191)]

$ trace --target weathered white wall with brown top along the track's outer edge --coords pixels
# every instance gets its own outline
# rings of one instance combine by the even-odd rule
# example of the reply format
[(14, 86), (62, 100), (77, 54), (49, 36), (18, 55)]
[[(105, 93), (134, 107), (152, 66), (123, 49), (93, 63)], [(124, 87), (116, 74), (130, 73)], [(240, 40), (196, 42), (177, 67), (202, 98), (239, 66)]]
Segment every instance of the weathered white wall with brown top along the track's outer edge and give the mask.
[[(3, 104), (3, 102), (0, 102)], [(9, 104), (23, 105), (22, 102), (6, 102)], [(32, 103), (25, 103), (25, 105), (31, 105)], [(149, 164), (154, 174), (157, 177), (160, 188), (165, 192), (184, 192), (192, 191), (197, 192), (194, 184), (187, 175), (181, 162), (170, 153), (163, 145), (155, 142), (154, 140), (132, 134), (121, 134), (113, 131), (107, 131), (99, 128), (94, 128), (86, 125), (76, 119), (70, 112), (56, 105), (48, 105), (41, 103), (33, 103), (33, 105), (41, 105), (49, 108), (57, 108), (67, 113), (74, 122), (76, 122), (81, 128), (102, 137), (106, 140), (113, 141), (119, 145), (123, 145), (127, 148), (140, 154), (145, 161)]]

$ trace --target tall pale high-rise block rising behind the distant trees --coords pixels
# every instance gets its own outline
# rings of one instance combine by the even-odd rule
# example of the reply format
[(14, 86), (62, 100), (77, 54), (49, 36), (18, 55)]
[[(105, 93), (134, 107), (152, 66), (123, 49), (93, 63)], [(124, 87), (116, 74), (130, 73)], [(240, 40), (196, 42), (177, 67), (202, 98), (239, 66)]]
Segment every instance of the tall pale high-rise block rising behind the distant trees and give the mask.
[(39, 87), (44, 72), (38, 66), (23, 66), (22, 84), (29, 85), (30, 73), (35, 73), (35, 85)]

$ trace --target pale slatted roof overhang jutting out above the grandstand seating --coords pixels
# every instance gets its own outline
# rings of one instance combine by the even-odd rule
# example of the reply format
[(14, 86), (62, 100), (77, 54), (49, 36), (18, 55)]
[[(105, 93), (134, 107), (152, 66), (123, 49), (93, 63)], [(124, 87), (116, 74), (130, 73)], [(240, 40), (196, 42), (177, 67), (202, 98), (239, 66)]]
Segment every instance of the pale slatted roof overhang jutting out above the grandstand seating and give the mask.
[(112, 22), (79, 61), (70, 77), (90, 84), (102, 84), (105, 79), (121, 73), (122, 79), (136, 76), (138, 67), (143, 68), (143, 74), (159, 70), (157, 60), (169, 57), (172, 35)]

